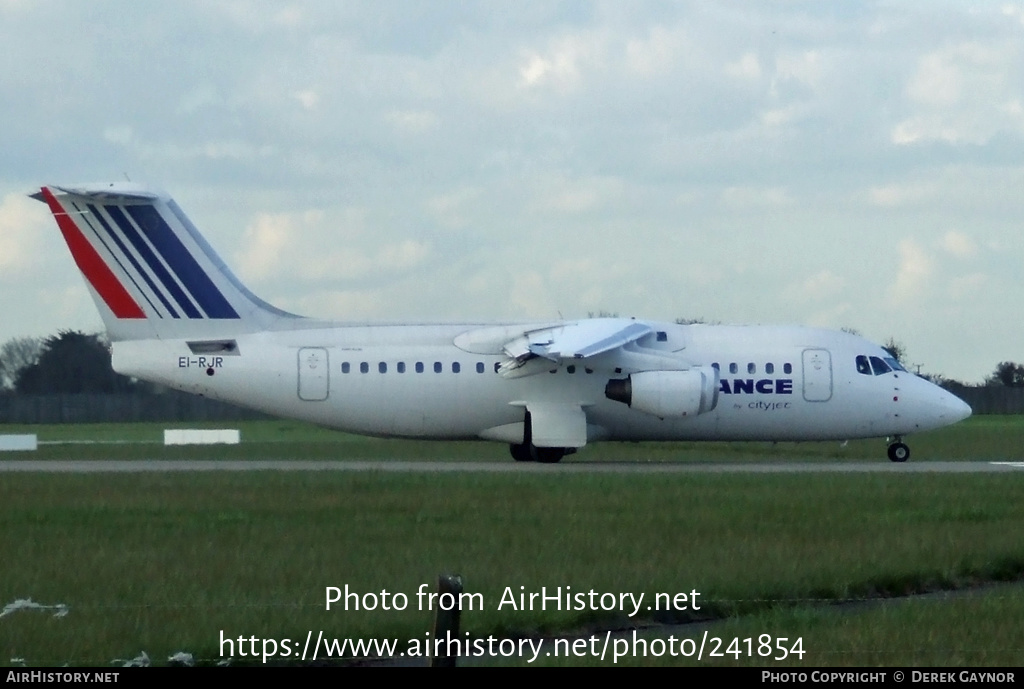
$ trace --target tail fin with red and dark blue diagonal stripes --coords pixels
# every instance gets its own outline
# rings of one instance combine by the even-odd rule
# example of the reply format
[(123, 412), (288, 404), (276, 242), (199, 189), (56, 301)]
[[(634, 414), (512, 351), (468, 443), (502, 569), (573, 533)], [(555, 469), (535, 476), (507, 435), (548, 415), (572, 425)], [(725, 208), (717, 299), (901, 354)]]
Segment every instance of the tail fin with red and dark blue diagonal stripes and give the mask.
[(138, 184), (44, 186), (112, 341), (210, 338), (297, 317), (256, 297), (174, 201)]

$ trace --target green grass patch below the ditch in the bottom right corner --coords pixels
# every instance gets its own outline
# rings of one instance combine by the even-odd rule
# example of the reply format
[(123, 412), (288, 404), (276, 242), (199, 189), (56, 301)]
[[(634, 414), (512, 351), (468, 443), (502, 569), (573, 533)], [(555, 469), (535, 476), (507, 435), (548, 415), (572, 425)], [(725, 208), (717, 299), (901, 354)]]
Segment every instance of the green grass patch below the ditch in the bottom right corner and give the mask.
[[(532, 663), (519, 658), (474, 658), (466, 664), (754, 665), (808, 674), (816, 668), (850, 666), (1014, 669), (1020, 666), (1024, 654), (1022, 615), (1024, 585), (1014, 584), (854, 606), (779, 607), (711, 625), (640, 630), (636, 637), (628, 632), (609, 642), (603, 661), (592, 656), (566, 657), (565, 646), (556, 657), (554, 646), (548, 646)], [(706, 632), (705, 651), (698, 657), (699, 650), (694, 649), (699, 649)], [(604, 635), (598, 637), (600, 649)], [(770, 651), (759, 643), (766, 639)], [(783, 654), (778, 650), (781, 639), (786, 640), (781, 645), (787, 651), (796, 647), (804, 653)], [(733, 640), (738, 640), (734, 646)]]

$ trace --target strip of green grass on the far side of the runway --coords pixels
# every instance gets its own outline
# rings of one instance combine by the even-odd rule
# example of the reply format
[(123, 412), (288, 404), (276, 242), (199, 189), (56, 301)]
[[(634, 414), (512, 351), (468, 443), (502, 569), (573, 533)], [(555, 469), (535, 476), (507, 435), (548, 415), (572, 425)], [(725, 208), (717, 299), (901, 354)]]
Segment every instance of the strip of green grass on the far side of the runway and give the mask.
[[(242, 445), (204, 447), (209, 459), (508, 461), (505, 445), (490, 442), (366, 438), (293, 421), (196, 424), (82, 424), (0, 426), (0, 433), (36, 433), (44, 444), (32, 459), (187, 459), (195, 447), (164, 447), (165, 428), (239, 428)], [(1024, 460), (1024, 416), (972, 417), (938, 431), (909, 436), (912, 462)], [(135, 447), (111, 441), (144, 443)], [(565, 462), (843, 462), (887, 461), (885, 439), (840, 442), (597, 442)]]

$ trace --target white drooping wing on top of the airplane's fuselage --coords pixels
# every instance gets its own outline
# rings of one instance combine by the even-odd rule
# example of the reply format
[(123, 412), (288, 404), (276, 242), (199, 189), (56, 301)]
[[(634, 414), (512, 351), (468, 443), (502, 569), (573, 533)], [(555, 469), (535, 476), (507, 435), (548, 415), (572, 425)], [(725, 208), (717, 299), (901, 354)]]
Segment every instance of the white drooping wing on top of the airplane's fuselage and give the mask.
[(611, 351), (654, 332), (630, 318), (588, 318), (527, 331), (503, 347), (509, 360), (499, 372), (521, 378), (551, 369), (565, 359), (587, 359)]

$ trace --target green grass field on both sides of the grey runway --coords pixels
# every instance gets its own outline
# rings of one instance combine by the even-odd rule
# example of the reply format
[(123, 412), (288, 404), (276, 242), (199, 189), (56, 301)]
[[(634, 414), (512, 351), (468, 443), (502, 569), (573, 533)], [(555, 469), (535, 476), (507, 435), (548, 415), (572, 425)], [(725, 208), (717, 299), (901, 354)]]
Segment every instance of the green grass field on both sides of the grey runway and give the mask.
[[(373, 440), (285, 422), (242, 428), (242, 445), (202, 449), (162, 447), (157, 426), (30, 432), (44, 441), (141, 441), (46, 445), (32, 455), (51, 459), (511, 462), (501, 445)], [(971, 419), (912, 438), (914, 461), (1019, 459), (1021, 430), (1016, 418)], [(888, 462), (882, 441), (609, 443), (568, 461), (836, 462), (845, 453)], [(213, 662), (221, 632), (423, 639), (432, 613), (417, 609), (416, 593), (424, 584), (432, 590), (442, 571), (461, 573), (482, 598), (482, 610), (463, 613), (473, 638), (631, 626), (659, 638), (685, 634), (660, 625), (711, 619), (723, 638), (802, 637), (807, 651), (784, 663), (663, 655), (620, 664), (1016, 664), (1024, 657), (1021, 587), (979, 589), (1024, 578), (1024, 475), (0, 474), (0, 606), (25, 599), (68, 606), (60, 617), (53, 610), (0, 617), (0, 662), (103, 665), (141, 651), (157, 663), (178, 651)], [(403, 593), (408, 608), (326, 610), (326, 587), (346, 585), (360, 594)], [(506, 587), (644, 593), (646, 602), (695, 590), (701, 609), (632, 618), (498, 609)], [(937, 591), (974, 593), (896, 599)], [(538, 662), (556, 660), (601, 664)]]

